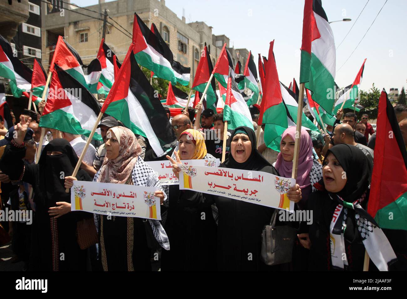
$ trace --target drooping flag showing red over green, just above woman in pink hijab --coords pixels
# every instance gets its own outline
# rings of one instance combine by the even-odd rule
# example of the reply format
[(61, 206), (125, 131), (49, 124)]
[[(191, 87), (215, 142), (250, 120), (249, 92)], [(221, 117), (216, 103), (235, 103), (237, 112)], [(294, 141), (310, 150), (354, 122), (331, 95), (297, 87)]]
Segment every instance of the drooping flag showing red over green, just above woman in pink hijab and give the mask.
[(263, 85), (263, 98), (260, 105), (259, 124), (265, 125), (264, 140), (267, 147), (280, 151), (278, 137), (294, 122), (287, 118), (287, 110), (282, 101), (281, 86), (278, 80), (276, 61), (273, 54), (274, 41), (270, 42), (269, 58)]

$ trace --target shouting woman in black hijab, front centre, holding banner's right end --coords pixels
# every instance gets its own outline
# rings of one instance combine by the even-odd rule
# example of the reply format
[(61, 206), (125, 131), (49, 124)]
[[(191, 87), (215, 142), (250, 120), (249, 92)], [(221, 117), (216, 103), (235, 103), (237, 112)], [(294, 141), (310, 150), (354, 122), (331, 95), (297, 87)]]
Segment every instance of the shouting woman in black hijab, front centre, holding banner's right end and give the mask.
[[(248, 127), (238, 127), (232, 133), (228, 158), (220, 167), (255, 170), (278, 175), (277, 170), (256, 149), (256, 135)], [(301, 190), (295, 186), (287, 195), (298, 202)], [(254, 203), (216, 196), (219, 210), (217, 236), (218, 269), (222, 271), (271, 270), (260, 260), (261, 234), (270, 223), (274, 209)], [(273, 267), (280, 270), (280, 267)]]

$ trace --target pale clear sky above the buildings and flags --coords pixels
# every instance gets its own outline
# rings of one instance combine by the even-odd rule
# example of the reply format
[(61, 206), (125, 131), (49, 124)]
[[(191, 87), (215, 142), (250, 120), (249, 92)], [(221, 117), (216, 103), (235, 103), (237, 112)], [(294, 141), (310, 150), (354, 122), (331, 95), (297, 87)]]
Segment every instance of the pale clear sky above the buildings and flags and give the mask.
[[(137, 1), (137, 0), (136, 0)], [(367, 58), (361, 89), (367, 90), (375, 83), (379, 89), (407, 87), (407, 1), (388, 0), (376, 21), (346, 64), (339, 69), (386, 0), (322, 0), (329, 21), (350, 18), (350, 22), (334, 22), (331, 28), (335, 45), (349, 35), (337, 48), (335, 81), (340, 87), (351, 84)], [(72, 1), (78, 4), (79, 2)], [(81, 0), (80, 6), (97, 4), (97, 0)], [(225, 34), (230, 46), (247, 48), (254, 54), (268, 55), (269, 42), (275, 39), (279, 79), (287, 86), (293, 77), (298, 81), (300, 73), (300, 47), (302, 39), (303, 0), (166, 0), (166, 6), (182, 17), (185, 9), (186, 22), (204, 21), (212, 26), (215, 35)]]

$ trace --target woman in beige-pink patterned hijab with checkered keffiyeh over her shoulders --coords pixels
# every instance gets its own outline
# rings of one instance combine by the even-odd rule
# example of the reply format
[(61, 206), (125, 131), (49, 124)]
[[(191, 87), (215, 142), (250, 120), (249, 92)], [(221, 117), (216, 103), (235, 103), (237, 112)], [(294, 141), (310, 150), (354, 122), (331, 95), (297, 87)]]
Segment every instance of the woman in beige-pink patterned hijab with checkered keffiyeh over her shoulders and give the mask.
[[(154, 196), (161, 201), (166, 199), (155, 172), (141, 159), (141, 146), (130, 129), (110, 128), (105, 147), (105, 159), (93, 181), (154, 186), (158, 190)], [(66, 187), (72, 186), (72, 179), (67, 179)], [(151, 249), (147, 241), (151, 229), (155, 240), (168, 250), (168, 238), (158, 220), (101, 215), (99, 234), (103, 270), (151, 271)]]

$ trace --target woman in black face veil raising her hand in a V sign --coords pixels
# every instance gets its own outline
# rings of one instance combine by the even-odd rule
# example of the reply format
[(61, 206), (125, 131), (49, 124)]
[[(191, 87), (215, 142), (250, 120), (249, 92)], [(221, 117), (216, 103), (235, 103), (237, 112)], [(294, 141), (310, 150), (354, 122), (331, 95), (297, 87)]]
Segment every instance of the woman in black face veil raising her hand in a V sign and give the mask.
[[(86, 270), (86, 249), (77, 243), (77, 221), (92, 218), (86, 212), (71, 212), (71, 194), (65, 192), (65, 177), (72, 175), (78, 157), (64, 139), (55, 139), (42, 150), (38, 164), (24, 165), (24, 136), (30, 123), (20, 118), (18, 137), (4, 150), (1, 170), (11, 180), (22, 180), (33, 186), (35, 217), (32, 229), (30, 270), (80, 271)], [(92, 181), (82, 169), (77, 179)]]

